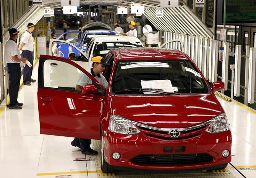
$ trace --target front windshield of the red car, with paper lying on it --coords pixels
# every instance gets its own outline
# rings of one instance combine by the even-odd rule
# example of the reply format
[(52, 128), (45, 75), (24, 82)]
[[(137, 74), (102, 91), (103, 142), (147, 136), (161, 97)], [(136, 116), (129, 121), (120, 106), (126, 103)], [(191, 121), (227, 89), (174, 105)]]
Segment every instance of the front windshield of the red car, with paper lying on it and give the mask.
[[(116, 94), (209, 93), (203, 77), (189, 60), (125, 60), (118, 61), (112, 92)], [(139, 89), (151, 89), (145, 92)]]

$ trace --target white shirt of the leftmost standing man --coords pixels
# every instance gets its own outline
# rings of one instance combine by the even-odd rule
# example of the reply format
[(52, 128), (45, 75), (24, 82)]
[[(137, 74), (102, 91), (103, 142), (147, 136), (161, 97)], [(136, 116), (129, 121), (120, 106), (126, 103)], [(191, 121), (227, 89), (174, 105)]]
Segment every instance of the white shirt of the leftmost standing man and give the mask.
[(18, 56), (18, 58), (21, 58), (21, 55), (19, 54), (19, 47), (17, 43), (14, 40), (9, 39), (8, 42), (5, 44), (5, 60), (6, 63), (20, 63), (17, 61), (14, 61), (11, 57), (12, 56)]

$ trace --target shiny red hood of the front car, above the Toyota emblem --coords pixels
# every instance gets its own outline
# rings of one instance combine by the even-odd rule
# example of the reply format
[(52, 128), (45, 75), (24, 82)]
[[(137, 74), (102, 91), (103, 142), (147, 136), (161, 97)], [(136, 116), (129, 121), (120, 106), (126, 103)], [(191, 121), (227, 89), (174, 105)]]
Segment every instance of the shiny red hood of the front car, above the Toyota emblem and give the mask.
[(113, 95), (115, 115), (160, 128), (198, 125), (224, 113), (214, 95)]

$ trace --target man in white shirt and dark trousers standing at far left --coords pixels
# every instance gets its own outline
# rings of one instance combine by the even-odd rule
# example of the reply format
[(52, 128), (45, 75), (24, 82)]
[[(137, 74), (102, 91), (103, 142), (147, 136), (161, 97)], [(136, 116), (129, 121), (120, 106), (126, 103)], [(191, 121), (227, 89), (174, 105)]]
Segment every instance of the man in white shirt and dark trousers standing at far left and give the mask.
[(18, 92), (19, 83), (21, 79), (21, 67), (20, 63), (26, 63), (26, 58), (21, 58), (19, 54), (19, 48), (16, 44), (19, 31), (16, 28), (12, 28), (9, 31), (10, 39), (5, 44), (5, 60), (7, 63), (8, 74), (9, 74), (9, 95), (10, 104), (9, 109), (22, 109), (23, 103), (19, 103)]

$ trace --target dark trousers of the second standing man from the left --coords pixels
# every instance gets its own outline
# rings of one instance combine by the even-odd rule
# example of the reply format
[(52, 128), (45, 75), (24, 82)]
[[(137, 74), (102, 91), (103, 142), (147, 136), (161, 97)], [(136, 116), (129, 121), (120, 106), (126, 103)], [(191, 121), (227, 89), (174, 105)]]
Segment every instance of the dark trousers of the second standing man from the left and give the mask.
[(21, 57), (26, 58), (32, 64), (31, 67), (26, 64), (23, 68), (23, 83), (26, 83), (27, 81), (31, 81), (31, 75), (33, 71), (33, 55), (31, 51), (23, 50)]

